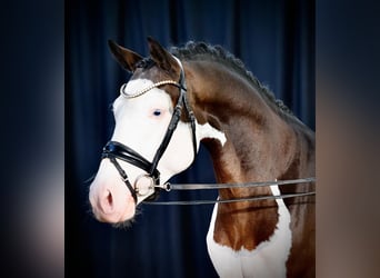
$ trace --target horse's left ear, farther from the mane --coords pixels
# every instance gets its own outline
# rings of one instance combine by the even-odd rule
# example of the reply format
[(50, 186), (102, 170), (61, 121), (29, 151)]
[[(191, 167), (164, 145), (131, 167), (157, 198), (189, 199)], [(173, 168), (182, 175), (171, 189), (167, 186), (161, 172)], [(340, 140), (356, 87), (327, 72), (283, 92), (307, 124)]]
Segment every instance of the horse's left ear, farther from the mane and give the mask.
[(141, 56), (129, 49), (120, 47), (113, 40), (108, 40), (108, 46), (114, 59), (121, 64), (123, 69), (131, 72), (136, 70), (136, 63), (142, 59)]

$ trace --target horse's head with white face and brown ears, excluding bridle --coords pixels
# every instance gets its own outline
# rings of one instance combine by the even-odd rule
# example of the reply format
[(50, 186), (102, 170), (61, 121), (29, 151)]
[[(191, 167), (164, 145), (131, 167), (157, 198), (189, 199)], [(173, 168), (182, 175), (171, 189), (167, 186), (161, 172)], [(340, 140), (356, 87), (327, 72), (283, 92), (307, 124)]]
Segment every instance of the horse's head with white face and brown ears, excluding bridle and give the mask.
[[(150, 60), (143, 59), (140, 54), (118, 46), (113, 41), (109, 41), (110, 50), (119, 64), (127, 71), (133, 72), (133, 78), (123, 89), (127, 95), (134, 95), (151, 88), (152, 80), (156, 82), (179, 80), (180, 75), (184, 72), (181, 61), (163, 49), (156, 40), (148, 38), (148, 46)], [(152, 63), (144, 63), (150, 61)], [(170, 89), (170, 93), (176, 93), (176, 91)], [(116, 128), (111, 140), (133, 149), (147, 160), (152, 161), (167, 132), (172, 117), (173, 105), (177, 105), (172, 103), (172, 99), (176, 99), (176, 97), (178, 95), (172, 95), (171, 98), (169, 92), (158, 87), (153, 87), (153, 89), (147, 90), (136, 98), (121, 95), (113, 103)], [(179, 121), (157, 166), (161, 173), (161, 183), (191, 165), (194, 158), (193, 148), (198, 150), (202, 138), (219, 139), (221, 145), (226, 142), (224, 135), (212, 128), (208, 122), (200, 126), (196, 120), (194, 123), (197, 126), (196, 147), (193, 147), (190, 125)], [(131, 186), (138, 179), (139, 187), (148, 188), (143, 182), (147, 183), (150, 180), (140, 179), (141, 175), (146, 175), (142, 169), (118, 158), (117, 161), (127, 173)], [(153, 191), (153, 189), (150, 190)], [(90, 186), (89, 199), (98, 220), (124, 222), (134, 216), (136, 206), (148, 196), (150, 196), (150, 192), (143, 195), (143, 197), (138, 196), (136, 203), (130, 189), (121, 179), (116, 166), (108, 158), (104, 158), (101, 160), (98, 173)]]

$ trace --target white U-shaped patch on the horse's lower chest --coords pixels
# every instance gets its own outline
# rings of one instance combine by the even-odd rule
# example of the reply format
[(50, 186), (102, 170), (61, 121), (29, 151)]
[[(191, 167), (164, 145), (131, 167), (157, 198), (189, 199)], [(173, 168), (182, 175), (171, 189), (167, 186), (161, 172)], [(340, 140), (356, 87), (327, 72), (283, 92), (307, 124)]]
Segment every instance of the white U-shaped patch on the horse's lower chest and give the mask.
[[(271, 186), (273, 195), (280, 195), (278, 186)], [(269, 240), (261, 242), (254, 250), (242, 248), (239, 251), (221, 246), (213, 240), (218, 212), (216, 203), (207, 235), (207, 245), (212, 264), (220, 277), (286, 277), (286, 264), (291, 248), (290, 214), (282, 199), (276, 199), (279, 221)]]

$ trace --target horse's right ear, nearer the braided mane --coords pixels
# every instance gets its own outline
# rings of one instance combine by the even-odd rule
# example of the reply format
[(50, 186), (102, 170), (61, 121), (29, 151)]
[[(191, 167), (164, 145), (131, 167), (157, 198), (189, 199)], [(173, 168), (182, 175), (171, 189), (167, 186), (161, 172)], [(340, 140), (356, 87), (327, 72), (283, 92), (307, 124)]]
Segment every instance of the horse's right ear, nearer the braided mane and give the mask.
[(148, 37), (148, 46), (150, 56), (158, 67), (166, 71), (178, 70), (178, 62), (172, 54), (162, 48), (153, 38)]

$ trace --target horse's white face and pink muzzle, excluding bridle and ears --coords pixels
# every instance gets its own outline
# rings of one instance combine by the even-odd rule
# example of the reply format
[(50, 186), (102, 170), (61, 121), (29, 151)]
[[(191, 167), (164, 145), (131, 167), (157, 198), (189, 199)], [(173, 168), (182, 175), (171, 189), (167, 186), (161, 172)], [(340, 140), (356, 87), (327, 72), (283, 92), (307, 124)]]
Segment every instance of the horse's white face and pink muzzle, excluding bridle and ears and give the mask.
[[(151, 80), (134, 79), (128, 82), (124, 91), (134, 93), (151, 85), (153, 85)], [(126, 98), (120, 95), (113, 102), (116, 127), (111, 140), (128, 146), (152, 161), (167, 132), (172, 111), (173, 103), (170, 96), (159, 88), (153, 88), (137, 98)], [(193, 153), (189, 123), (180, 121), (158, 163), (161, 183), (187, 169), (193, 160)], [(131, 185), (134, 185), (138, 177), (147, 173), (131, 163), (117, 160), (128, 175)], [(147, 196), (138, 197), (138, 203), (152, 192), (153, 189)], [(130, 190), (107, 158), (102, 159), (90, 186), (89, 198), (93, 214), (100, 221), (122, 222), (136, 214), (137, 203)]]

